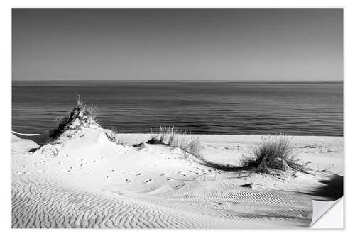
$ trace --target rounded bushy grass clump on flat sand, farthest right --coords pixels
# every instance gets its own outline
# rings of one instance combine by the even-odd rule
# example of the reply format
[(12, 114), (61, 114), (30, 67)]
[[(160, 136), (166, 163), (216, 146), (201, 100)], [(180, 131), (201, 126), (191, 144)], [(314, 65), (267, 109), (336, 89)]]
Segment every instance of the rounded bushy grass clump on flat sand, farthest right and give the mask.
[(271, 172), (293, 169), (308, 173), (307, 163), (300, 164), (295, 158), (295, 145), (291, 137), (285, 133), (263, 137), (261, 142), (253, 147), (251, 154), (251, 157), (244, 157), (242, 165), (254, 167), (257, 172), (271, 174)]

